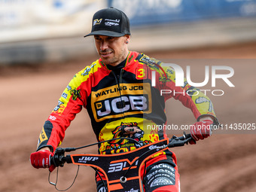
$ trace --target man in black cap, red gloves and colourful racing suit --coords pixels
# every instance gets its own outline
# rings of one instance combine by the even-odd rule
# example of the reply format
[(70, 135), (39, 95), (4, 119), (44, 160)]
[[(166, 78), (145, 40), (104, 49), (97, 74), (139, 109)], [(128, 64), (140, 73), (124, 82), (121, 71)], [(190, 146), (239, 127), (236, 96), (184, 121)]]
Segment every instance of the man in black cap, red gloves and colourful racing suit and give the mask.
[[(85, 37), (89, 35), (94, 36), (100, 59), (78, 72), (62, 93), (58, 105), (44, 123), (37, 151), (31, 154), (32, 166), (53, 171), (55, 167), (50, 165), (49, 158), (83, 107), (87, 108), (99, 142), (126, 136), (147, 145), (166, 138), (164, 130), (147, 127), (166, 123), (165, 102), (172, 97), (190, 108), (197, 120), (190, 129), (193, 137), (190, 144), (211, 135), (209, 125), (218, 122), (213, 108), (210, 108), (212, 102), (186, 81), (183, 87), (175, 87), (174, 69), (163, 67), (162, 62), (144, 53), (128, 50), (130, 21), (126, 14), (116, 8), (97, 11), (93, 16), (92, 30)], [(152, 71), (156, 75), (155, 86), (151, 85)], [(174, 90), (176, 93), (190, 91), (190, 94), (172, 92), (161, 96), (160, 90)], [(197, 102), (203, 98), (209, 102)], [(199, 126), (202, 129), (198, 129)], [(102, 143), (99, 153), (121, 153), (138, 147), (128, 139), (119, 139)], [(166, 174), (158, 172), (159, 169)], [(102, 177), (105, 178), (104, 175)], [(142, 181), (147, 192), (179, 191), (175, 154), (168, 150), (148, 160)], [(97, 191), (104, 191), (98, 177), (96, 184)]]

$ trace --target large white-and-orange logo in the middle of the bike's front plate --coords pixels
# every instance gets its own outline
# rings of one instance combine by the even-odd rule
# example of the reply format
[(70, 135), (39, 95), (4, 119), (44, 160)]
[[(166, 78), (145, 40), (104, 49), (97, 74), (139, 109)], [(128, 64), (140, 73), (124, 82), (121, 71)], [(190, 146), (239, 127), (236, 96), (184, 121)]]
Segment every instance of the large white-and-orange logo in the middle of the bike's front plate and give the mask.
[[(122, 170), (129, 169), (129, 167), (134, 163), (134, 166), (132, 166), (130, 169), (135, 169), (138, 166), (138, 157), (136, 157), (133, 161), (130, 160), (121, 160), (120, 162), (112, 161), (109, 165), (108, 172), (120, 172)], [(117, 162), (117, 163), (115, 163)]]

